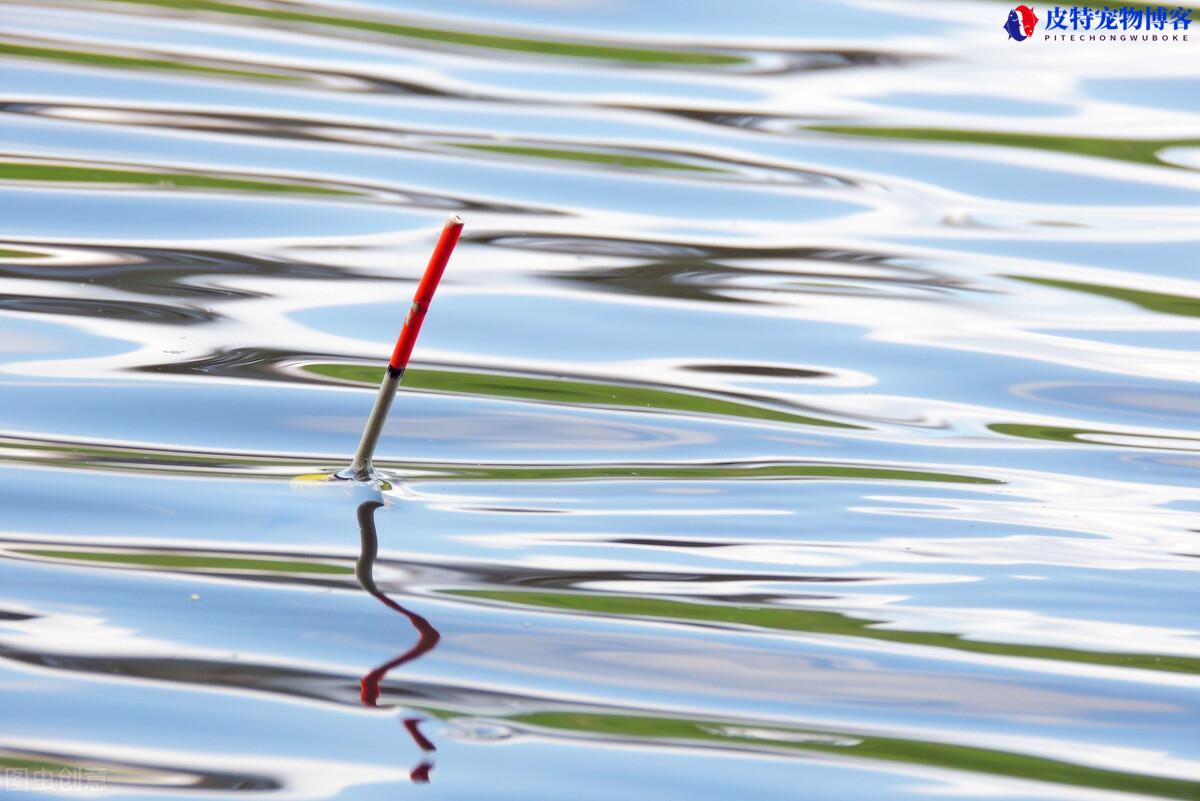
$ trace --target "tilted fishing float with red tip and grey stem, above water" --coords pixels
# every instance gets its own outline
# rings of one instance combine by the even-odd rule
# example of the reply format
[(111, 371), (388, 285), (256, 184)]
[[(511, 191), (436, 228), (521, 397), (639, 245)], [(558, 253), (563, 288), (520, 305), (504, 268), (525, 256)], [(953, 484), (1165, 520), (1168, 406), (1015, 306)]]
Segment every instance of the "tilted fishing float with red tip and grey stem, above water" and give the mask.
[(430, 309), (430, 303), (433, 302), (433, 293), (438, 289), (442, 273), (446, 271), (450, 254), (454, 253), (461, 234), (462, 217), (451, 215), (442, 228), (438, 243), (433, 247), (433, 254), (430, 255), (430, 264), (425, 267), (425, 275), (421, 276), (421, 282), (416, 285), (413, 305), (408, 307), (408, 317), (404, 318), (404, 325), (401, 326), (400, 336), (396, 338), (396, 347), (391, 351), (391, 359), (388, 360), (388, 371), (379, 384), (379, 393), (376, 396), (371, 415), (362, 429), (362, 439), (359, 440), (359, 447), (354, 452), (354, 460), (350, 462), (350, 466), (335, 474), (335, 477), (348, 481), (371, 481), (376, 477), (371, 458), (379, 444), (379, 435), (388, 421), (388, 412), (391, 410), (396, 390), (400, 389), (400, 380), (404, 377), (408, 359), (413, 355), (413, 347), (416, 344), (416, 335), (421, 332), (425, 313)]

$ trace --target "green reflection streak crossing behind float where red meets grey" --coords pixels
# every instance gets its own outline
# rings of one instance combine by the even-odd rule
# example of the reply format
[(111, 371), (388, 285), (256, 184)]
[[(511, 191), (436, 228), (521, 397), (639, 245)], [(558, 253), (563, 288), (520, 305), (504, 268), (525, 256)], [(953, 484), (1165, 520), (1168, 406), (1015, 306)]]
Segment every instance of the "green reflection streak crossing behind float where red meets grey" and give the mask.
[[(383, 379), (383, 368), (368, 365), (308, 365), (305, 369), (317, 375), (336, 378), (377, 386)], [(482, 395), (497, 398), (523, 398), (529, 401), (547, 401), (553, 403), (578, 403), (595, 406), (623, 406), (635, 409), (655, 409), (670, 411), (688, 411), (724, 417), (743, 417), (750, 420), (769, 420), (773, 422), (800, 423), (804, 426), (824, 426), (827, 428), (862, 428), (834, 420), (793, 415), (768, 406), (749, 403), (722, 401), (688, 392), (672, 392), (649, 387), (626, 386), (623, 384), (594, 384), (589, 381), (568, 381), (532, 375), (500, 375), (493, 373), (470, 373), (464, 371), (404, 371), (404, 386), (414, 390), (434, 392), (456, 392), (462, 395)]]

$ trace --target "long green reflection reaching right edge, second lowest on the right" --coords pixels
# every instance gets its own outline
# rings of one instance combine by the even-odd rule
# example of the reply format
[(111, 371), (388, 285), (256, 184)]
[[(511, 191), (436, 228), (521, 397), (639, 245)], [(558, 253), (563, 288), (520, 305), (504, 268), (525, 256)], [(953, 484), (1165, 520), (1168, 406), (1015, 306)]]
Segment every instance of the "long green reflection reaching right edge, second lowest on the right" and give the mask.
[(530, 592), (510, 590), (446, 590), (450, 595), (500, 601), (526, 607), (544, 607), (589, 612), (622, 618), (653, 618), (659, 620), (700, 621), (736, 626), (754, 626), (779, 631), (797, 631), (810, 634), (839, 634), (869, 639), (948, 648), (973, 654), (1054, 660), (1058, 662), (1082, 662), (1118, 668), (1165, 670), (1172, 673), (1200, 673), (1200, 660), (1184, 656), (1157, 654), (1109, 654), (1105, 651), (1081, 651), (1044, 645), (1014, 645), (964, 639), (959, 634), (935, 632), (896, 631), (875, 628), (881, 620), (851, 618), (836, 612), (809, 609), (780, 609), (774, 607), (732, 606), (716, 603), (691, 603), (665, 601), (638, 596), (584, 595), (571, 592)]

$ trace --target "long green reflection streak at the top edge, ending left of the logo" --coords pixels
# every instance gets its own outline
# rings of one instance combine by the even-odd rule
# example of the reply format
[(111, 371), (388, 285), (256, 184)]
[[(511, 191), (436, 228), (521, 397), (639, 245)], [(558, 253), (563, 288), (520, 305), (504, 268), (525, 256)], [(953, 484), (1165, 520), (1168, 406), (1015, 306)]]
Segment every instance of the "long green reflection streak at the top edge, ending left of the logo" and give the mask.
[(388, 34), (391, 36), (403, 36), (407, 38), (419, 38), (428, 42), (440, 42), (444, 44), (461, 44), (464, 47), (487, 48), (492, 50), (510, 50), (521, 53), (536, 53), (540, 55), (563, 55), (580, 59), (605, 59), (608, 61), (636, 61), (642, 64), (664, 64), (680, 66), (718, 66), (744, 64), (746, 59), (731, 55), (728, 53), (713, 53), (704, 50), (665, 50), (641, 47), (622, 47), (612, 44), (587, 44), (582, 42), (566, 42), (544, 38), (528, 38), (518, 36), (500, 36), (496, 34), (473, 34), (469, 31), (448, 30), (444, 28), (426, 28), (421, 25), (400, 25), (396, 23), (384, 23), (372, 19), (355, 19), (353, 17), (332, 17), (329, 14), (314, 14), (302, 11), (294, 11), (290, 7), (260, 7), (240, 6), (233, 2), (221, 2), (220, 0), (116, 0), (118, 2), (131, 2), (138, 5), (162, 6), (166, 8), (179, 8), (182, 11), (210, 11), (226, 14), (241, 14), (246, 17), (259, 17), (263, 19), (277, 19), (281, 22), (305, 23), (314, 25), (332, 25), (337, 28), (353, 28), (356, 30)]

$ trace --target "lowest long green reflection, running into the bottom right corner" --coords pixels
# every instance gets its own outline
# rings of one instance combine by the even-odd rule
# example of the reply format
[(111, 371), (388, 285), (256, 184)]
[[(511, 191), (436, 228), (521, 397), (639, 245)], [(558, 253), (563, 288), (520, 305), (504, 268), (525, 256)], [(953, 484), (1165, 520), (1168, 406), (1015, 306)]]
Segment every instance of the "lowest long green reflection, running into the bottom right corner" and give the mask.
[(1196, 782), (1104, 770), (1044, 757), (944, 742), (814, 731), (778, 725), (596, 712), (532, 712), (506, 719), (558, 731), (740, 748), (835, 753), (851, 758), (931, 765), (947, 770), (1138, 793), (1164, 799), (1200, 797), (1200, 783)]

